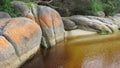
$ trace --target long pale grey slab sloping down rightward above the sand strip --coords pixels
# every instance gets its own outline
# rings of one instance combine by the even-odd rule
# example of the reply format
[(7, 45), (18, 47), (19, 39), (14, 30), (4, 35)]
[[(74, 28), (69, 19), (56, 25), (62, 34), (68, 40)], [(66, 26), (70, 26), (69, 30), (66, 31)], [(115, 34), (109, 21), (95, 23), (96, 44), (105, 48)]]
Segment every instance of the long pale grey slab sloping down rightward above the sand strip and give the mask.
[(78, 25), (78, 28), (90, 31), (97, 31), (101, 34), (112, 33), (112, 30), (99, 20), (89, 19), (85, 16), (75, 15), (71, 16), (70, 19)]

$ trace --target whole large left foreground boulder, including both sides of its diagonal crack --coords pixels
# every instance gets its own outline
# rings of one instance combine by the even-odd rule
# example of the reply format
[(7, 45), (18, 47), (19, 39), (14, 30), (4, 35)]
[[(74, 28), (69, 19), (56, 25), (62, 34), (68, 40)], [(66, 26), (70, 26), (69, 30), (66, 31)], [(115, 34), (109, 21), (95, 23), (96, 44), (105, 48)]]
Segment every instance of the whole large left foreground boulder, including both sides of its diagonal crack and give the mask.
[[(9, 42), (7, 44), (7, 41), (1, 40), (0, 37), (0, 67), (6, 63), (5, 67), (2, 68), (20, 66), (40, 48), (41, 29), (37, 23), (28, 18), (0, 19), (0, 33)], [(6, 50), (1, 47), (6, 48)], [(16, 56), (19, 58), (18, 61)]]

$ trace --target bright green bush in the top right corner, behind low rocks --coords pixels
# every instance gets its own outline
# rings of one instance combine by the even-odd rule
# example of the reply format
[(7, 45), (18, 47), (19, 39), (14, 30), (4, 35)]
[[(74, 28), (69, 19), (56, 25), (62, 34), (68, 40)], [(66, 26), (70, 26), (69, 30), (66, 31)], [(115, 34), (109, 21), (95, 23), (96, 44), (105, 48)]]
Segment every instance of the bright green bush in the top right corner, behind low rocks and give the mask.
[(90, 0), (92, 3), (92, 14), (96, 15), (98, 11), (104, 11), (106, 16), (112, 16), (117, 13), (120, 6), (119, 0)]

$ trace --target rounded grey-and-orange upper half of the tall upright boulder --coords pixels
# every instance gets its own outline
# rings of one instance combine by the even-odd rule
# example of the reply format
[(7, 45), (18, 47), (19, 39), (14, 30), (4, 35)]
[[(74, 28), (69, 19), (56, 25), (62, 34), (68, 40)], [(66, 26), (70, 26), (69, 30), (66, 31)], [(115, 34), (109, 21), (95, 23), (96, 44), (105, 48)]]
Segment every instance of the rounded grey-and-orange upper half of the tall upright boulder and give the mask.
[(59, 13), (54, 9), (46, 6), (41, 6), (39, 12), (40, 12), (39, 20), (42, 21), (41, 24), (45, 23), (43, 27), (46, 26), (51, 27), (53, 25), (55, 27), (58, 27), (61, 24), (61, 17)]

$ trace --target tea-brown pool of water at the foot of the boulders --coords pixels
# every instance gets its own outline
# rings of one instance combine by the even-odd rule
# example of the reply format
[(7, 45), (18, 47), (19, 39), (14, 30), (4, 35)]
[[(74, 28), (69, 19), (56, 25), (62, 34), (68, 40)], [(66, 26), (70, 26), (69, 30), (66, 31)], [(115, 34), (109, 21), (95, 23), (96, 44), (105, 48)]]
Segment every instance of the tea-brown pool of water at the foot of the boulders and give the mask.
[(120, 33), (68, 38), (21, 68), (120, 68)]

